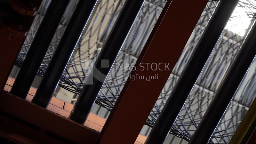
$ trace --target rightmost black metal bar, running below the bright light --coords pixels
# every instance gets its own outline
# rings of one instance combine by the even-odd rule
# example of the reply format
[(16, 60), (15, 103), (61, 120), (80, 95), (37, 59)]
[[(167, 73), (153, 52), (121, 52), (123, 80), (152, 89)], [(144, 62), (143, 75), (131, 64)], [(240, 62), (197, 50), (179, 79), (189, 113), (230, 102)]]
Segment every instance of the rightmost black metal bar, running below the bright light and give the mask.
[(223, 79), (210, 106), (207, 108), (201, 122), (196, 128), (189, 144), (206, 144), (220, 122), (228, 104), (232, 100), (236, 89), (246, 74), (256, 54), (256, 24), (254, 23), (244, 43), (232, 62), (227, 75)]

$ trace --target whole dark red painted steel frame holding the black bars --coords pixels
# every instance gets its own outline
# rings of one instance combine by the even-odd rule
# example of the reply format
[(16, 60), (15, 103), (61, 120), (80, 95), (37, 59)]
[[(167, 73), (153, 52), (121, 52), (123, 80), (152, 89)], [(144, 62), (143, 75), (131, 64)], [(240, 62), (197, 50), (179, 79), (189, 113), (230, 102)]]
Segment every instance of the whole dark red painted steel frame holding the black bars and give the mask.
[[(23, 20), (19, 27), (14, 27), (17, 24), (13, 24), (12, 21), (8, 23), (2, 20), (1, 22), (1, 88), (9, 76), (13, 62), (36, 14), (35, 11), (38, 9), (34, 7), (31, 10), (30, 6), (38, 6), (41, 1), (26, 0), (30, 2), (30, 6), (21, 4), (22, 2), (11, 0), (9, 3), (9, 6), (12, 6), (10, 9), (16, 11), (16, 18)], [(135, 66), (138, 69), (131, 74), (131, 76), (144, 77), (158, 75), (158, 79), (128, 80), (100, 133), (1, 91), (0, 136), (18, 143), (42, 142), (42, 140), (49, 143), (134, 143), (207, 2), (208, 0), (167, 1), (137, 60)], [(169, 70), (141, 71), (140, 63), (153, 62), (169, 63)], [(135, 98), (136, 101), (134, 101)], [(131, 103), (133, 107), (130, 107)], [(134, 119), (127, 119), (127, 115), (133, 115)]]

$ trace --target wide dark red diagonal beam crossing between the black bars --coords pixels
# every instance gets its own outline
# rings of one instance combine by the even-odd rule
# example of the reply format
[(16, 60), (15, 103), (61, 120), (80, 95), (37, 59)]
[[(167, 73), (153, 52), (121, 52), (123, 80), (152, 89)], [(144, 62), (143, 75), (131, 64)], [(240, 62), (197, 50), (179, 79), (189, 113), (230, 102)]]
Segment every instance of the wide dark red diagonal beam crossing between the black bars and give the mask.
[[(134, 143), (207, 2), (208, 0), (167, 1), (136, 62), (136, 70), (130, 75), (144, 76), (144, 79), (127, 80), (101, 131), (100, 144), (115, 144), (120, 141), (123, 144)], [(149, 67), (147, 63), (150, 63)], [(151, 63), (165, 63), (168, 66), (155, 70), (156, 66), (151, 68)], [(157, 79), (155, 77), (147, 81), (149, 76), (157, 76)], [(132, 119), (127, 116), (132, 116)]]

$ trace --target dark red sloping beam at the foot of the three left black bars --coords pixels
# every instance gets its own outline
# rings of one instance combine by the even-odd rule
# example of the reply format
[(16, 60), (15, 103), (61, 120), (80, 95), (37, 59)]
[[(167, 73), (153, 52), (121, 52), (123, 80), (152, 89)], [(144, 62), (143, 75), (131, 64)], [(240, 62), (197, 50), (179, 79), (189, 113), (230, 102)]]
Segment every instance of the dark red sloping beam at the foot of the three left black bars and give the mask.
[[(37, 127), (47, 135), (73, 143), (94, 144), (99, 132), (41, 108), (8, 92), (0, 92), (0, 112)], [(26, 129), (24, 129), (26, 131)]]

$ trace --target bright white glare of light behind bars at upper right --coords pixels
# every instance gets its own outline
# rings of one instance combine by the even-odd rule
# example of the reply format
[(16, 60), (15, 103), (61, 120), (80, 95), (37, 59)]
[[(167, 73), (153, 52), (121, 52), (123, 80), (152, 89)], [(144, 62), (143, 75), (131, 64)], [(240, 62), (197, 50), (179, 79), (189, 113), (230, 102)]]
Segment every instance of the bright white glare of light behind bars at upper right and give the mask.
[[(249, 0), (251, 4), (256, 6), (256, 2)], [(248, 3), (247, 0), (240, 0), (240, 2)], [(248, 12), (256, 12), (255, 8), (247, 7), (243, 3), (239, 3), (241, 6), (245, 7), (236, 7), (230, 20), (228, 21), (226, 25), (226, 29), (229, 31), (232, 31), (239, 36), (244, 36), (245, 30), (249, 27), (252, 18), (250, 15), (248, 15)]]

